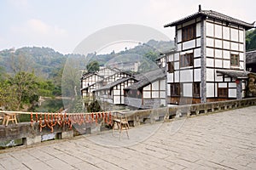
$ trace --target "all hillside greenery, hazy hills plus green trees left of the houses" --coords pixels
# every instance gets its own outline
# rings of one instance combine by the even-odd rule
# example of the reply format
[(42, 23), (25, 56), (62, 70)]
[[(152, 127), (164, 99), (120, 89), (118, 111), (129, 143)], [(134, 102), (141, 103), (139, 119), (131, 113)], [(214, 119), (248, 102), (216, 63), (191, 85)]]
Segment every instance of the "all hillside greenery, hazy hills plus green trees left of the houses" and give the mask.
[[(88, 54), (86, 59), (96, 60), (99, 65), (104, 65), (109, 59), (122, 54), (138, 54), (154, 61), (161, 52), (173, 48), (173, 42), (158, 42), (150, 40), (138, 44), (135, 48), (119, 53)], [(55, 111), (63, 107), (51, 101), (38, 108), (40, 96), (55, 98), (64, 94), (73, 99), (79, 95), (79, 71), (86, 70), (85, 56), (80, 54), (61, 54), (52, 48), (24, 47), (10, 48), (0, 51), (0, 107), (10, 111)], [(67, 65), (67, 61), (73, 65)], [(71, 67), (71, 69), (67, 69)], [(63, 72), (64, 82), (62, 81)], [(77, 75), (74, 75), (77, 74)], [(75, 79), (75, 80), (74, 80)], [(62, 84), (61, 84), (62, 83)], [(61, 91), (62, 85), (62, 91)], [(73, 87), (77, 92), (69, 92), (65, 88)], [(64, 95), (65, 96), (65, 95)], [(76, 100), (74, 100), (76, 101)], [(76, 107), (75, 104), (71, 104)], [(79, 111), (74, 108), (73, 111)]]

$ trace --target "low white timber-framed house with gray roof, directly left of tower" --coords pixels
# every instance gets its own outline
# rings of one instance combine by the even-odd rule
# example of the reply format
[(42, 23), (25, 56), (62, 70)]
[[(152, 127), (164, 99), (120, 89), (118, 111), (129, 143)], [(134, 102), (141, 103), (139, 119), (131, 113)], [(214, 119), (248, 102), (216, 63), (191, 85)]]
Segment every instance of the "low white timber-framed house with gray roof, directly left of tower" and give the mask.
[(162, 69), (148, 71), (135, 77), (137, 82), (125, 90), (125, 105), (139, 109), (166, 105), (166, 75)]

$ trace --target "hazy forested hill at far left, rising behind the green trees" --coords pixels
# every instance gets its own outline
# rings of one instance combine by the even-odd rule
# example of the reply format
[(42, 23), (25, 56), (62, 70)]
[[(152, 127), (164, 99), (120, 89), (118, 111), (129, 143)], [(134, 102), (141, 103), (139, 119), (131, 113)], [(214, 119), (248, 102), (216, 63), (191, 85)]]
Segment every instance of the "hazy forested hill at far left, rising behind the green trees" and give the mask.
[(36, 75), (49, 77), (66, 62), (67, 56), (55, 52), (52, 48), (18, 48), (0, 51), (0, 67), (7, 73), (34, 71)]

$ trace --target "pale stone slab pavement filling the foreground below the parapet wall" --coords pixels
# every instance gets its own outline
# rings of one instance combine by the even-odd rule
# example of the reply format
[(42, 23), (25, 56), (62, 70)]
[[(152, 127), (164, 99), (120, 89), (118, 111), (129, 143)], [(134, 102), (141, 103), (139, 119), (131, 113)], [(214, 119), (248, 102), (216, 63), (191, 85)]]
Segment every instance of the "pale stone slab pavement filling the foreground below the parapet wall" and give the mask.
[(256, 169), (256, 106), (2, 151), (0, 169)]

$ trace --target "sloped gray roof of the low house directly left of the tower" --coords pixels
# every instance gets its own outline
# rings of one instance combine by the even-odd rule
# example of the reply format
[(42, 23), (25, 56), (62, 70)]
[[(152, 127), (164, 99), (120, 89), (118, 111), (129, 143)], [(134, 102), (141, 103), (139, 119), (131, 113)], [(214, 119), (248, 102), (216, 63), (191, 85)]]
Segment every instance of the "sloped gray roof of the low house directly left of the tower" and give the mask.
[(154, 71), (148, 71), (146, 73), (137, 75), (135, 77), (139, 82), (136, 82), (134, 84), (131, 84), (131, 86), (124, 88), (125, 90), (129, 89), (139, 89), (147, 86), (151, 82), (155, 82), (157, 80), (165, 78), (166, 75), (162, 69), (157, 69)]

